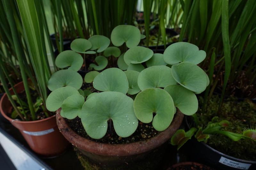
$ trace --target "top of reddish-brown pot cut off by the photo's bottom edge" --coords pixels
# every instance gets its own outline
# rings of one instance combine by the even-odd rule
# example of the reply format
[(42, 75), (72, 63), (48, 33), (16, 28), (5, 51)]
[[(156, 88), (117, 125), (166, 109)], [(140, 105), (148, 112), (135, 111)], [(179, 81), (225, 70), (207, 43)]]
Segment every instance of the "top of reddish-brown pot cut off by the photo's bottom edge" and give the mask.
[(213, 168), (203, 165), (203, 164), (199, 164), (196, 162), (180, 162), (178, 164), (173, 165), (172, 167), (168, 168), (167, 170), (179, 170), (179, 169), (194, 169), (194, 170), (214, 170)]

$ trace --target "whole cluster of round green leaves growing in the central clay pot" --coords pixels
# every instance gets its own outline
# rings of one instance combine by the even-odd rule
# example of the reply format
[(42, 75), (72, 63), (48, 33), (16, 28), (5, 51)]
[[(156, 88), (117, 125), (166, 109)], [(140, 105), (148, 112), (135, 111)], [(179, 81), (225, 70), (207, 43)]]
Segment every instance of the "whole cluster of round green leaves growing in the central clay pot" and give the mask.
[[(72, 51), (56, 58), (56, 66), (64, 69), (49, 81), (48, 88), (53, 91), (47, 98), (47, 109), (61, 107), (62, 117), (81, 118), (86, 133), (95, 139), (111, 135), (112, 126), (118, 136), (131, 136), (139, 121), (152, 122), (157, 131), (164, 131), (176, 108), (185, 115), (196, 113), (195, 93), (203, 92), (209, 84), (207, 74), (196, 65), (204, 60), (205, 52), (181, 42), (169, 46), (164, 54), (154, 54), (138, 46), (140, 39), (140, 30), (131, 25), (113, 29), (111, 46), (110, 40), (100, 35), (75, 39)], [(94, 93), (90, 88), (80, 89), (82, 78), (75, 72), (83, 63), (79, 53), (89, 54), (98, 64), (91, 63), (92, 71), (84, 77)]]

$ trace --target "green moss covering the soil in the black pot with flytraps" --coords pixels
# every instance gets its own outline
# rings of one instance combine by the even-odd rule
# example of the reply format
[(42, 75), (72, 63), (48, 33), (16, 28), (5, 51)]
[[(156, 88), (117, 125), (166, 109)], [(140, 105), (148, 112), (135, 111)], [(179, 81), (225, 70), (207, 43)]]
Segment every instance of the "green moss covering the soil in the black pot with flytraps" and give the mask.
[[(235, 133), (242, 133), (244, 129), (256, 125), (256, 105), (254, 103), (249, 100), (238, 102), (236, 98), (230, 97), (223, 102), (220, 112), (217, 113), (219, 100), (219, 96), (213, 96), (206, 112), (203, 112), (202, 108), (199, 107), (197, 112), (199, 125), (206, 127), (210, 121), (228, 120), (230, 125), (225, 130)], [(202, 106), (202, 103), (203, 99), (199, 98), (199, 106)], [(224, 135), (212, 135), (207, 144), (238, 159), (256, 160), (256, 142), (251, 139), (241, 139), (235, 142)]]

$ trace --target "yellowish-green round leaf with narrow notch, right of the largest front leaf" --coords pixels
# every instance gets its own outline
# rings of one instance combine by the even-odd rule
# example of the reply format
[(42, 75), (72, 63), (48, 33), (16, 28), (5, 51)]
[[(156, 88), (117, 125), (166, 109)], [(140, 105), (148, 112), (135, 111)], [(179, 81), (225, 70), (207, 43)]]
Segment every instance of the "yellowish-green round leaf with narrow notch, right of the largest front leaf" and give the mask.
[[(172, 97), (163, 89), (146, 89), (141, 91), (134, 100), (134, 112), (143, 123), (150, 123), (157, 131), (169, 127), (174, 115)], [(156, 113), (153, 118), (153, 113)]]

